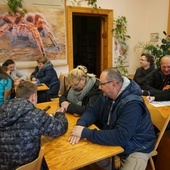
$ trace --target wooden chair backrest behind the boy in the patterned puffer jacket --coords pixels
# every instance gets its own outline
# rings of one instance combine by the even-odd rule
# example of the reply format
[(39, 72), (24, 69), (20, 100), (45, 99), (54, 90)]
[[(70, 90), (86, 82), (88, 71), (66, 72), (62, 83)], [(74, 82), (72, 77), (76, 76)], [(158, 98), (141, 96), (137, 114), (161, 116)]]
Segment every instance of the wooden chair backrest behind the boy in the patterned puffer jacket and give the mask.
[(41, 147), (37, 159), (35, 159), (34, 161), (32, 161), (28, 164), (22, 165), (21, 167), (17, 168), (16, 170), (40, 170), (43, 156), (44, 156), (44, 148)]

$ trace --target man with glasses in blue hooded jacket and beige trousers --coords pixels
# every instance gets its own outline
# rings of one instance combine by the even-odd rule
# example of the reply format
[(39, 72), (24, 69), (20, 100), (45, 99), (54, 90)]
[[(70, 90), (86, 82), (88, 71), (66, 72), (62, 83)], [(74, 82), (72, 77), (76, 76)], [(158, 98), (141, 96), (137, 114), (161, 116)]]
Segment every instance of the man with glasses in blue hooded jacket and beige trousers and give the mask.
[[(77, 121), (69, 142), (76, 144), (80, 138), (86, 138), (101, 145), (119, 145), (124, 148), (120, 169), (144, 170), (156, 137), (140, 87), (117, 69), (109, 68), (101, 73), (99, 88), (103, 95)], [(100, 130), (89, 129), (91, 124)], [(103, 162), (107, 160), (99, 164)], [(110, 162), (102, 165), (105, 169), (110, 166)]]

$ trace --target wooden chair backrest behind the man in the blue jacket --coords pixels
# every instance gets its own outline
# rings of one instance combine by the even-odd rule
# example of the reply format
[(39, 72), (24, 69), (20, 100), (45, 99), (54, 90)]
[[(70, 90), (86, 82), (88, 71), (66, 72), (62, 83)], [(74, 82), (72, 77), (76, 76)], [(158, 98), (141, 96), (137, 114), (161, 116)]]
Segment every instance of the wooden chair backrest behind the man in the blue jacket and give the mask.
[(157, 109), (149, 109), (150, 115), (151, 115), (151, 120), (154, 126), (156, 126), (159, 129), (159, 133), (157, 136), (157, 140), (155, 142), (155, 148), (154, 150), (157, 149), (159, 142), (166, 130), (166, 127), (170, 121), (170, 114), (168, 114), (167, 117), (164, 117), (161, 112)]

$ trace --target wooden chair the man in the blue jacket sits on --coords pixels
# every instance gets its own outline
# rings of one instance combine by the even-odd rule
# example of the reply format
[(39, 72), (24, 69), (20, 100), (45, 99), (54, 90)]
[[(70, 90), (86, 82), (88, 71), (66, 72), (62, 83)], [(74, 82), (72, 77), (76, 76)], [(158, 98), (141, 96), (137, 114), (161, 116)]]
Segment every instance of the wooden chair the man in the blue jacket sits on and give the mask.
[(158, 145), (160, 143), (160, 140), (166, 130), (166, 127), (170, 121), (170, 114), (168, 114), (167, 117), (164, 117), (161, 112), (157, 109), (149, 109), (150, 111), (150, 115), (151, 115), (151, 120), (152, 120), (152, 123), (153, 125), (158, 128), (159, 130), (159, 133), (157, 134), (157, 140), (155, 142), (155, 147), (154, 147), (154, 150), (152, 151), (152, 155), (151, 157), (149, 158), (149, 163), (151, 165), (151, 169), (152, 170), (155, 170), (155, 165), (154, 165), (154, 162), (153, 162), (153, 159), (152, 157), (153, 156), (156, 156), (158, 154), (157, 152), (157, 148), (158, 148)]

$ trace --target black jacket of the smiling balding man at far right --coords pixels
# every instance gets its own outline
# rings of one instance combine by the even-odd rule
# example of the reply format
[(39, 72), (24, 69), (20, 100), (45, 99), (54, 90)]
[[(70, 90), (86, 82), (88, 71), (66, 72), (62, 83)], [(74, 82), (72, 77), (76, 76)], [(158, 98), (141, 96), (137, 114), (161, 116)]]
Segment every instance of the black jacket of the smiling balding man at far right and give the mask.
[(162, 90), (165, 84), (170, 85), (170, 75), (165, 76), (161, 69), (156, 69), (152, 72), (151, 76), (147, 78), (147, 81), (143, 87), (143, 95), (147, 96), (150, 91), (151, 96), (155, 96), (156, 99), (170, 100), (170, 90)]

